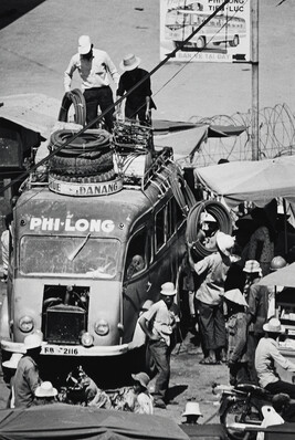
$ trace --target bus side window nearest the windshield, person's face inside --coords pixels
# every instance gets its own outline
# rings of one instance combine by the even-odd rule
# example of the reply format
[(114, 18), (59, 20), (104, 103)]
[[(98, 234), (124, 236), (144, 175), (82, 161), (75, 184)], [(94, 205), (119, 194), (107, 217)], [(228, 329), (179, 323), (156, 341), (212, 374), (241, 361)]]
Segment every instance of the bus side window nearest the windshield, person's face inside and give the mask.
[(146, 269), (148, 237), (148, 230), (145, 227), (130, 239), (126, 259), (127, 279), (135, 276)]

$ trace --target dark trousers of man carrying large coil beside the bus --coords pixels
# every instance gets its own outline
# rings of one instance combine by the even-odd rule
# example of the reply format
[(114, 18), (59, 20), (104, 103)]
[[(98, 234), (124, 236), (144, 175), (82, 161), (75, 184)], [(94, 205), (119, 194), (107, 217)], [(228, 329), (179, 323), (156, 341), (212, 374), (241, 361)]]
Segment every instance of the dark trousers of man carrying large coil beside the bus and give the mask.
[(217, 350), (225, 347), (226, 332), (222, 303), (210, 305), (199, 301), (198, 310), (200, 333), (204, 350)]

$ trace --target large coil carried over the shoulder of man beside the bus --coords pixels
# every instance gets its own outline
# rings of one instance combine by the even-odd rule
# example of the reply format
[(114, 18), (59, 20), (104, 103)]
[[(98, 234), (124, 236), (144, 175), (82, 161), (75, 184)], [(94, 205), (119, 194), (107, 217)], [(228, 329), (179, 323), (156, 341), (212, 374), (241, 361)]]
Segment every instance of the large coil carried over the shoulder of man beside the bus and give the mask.
[(199, 201), (196, 203), (188, 214), (186, 235), (187, 241), (189, 243), (193, 243), (192, 250), (198, 260), (203, 259), (213, 252), (212, 250), (207, 249), (198, 239), (198, 226), (200, 224), (202, 212), (208, 212), (214, 217), (220, 231), (228, 234), (232, 233), (231, 216), (222, 203), (214, 200)]

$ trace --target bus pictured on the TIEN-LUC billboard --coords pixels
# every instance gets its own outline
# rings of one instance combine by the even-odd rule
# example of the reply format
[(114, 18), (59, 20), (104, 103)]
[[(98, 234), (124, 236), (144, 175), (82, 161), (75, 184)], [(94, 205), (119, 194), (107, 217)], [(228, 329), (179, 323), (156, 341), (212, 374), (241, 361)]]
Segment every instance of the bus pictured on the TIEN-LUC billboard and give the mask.
[(196, 10), (173, 9), (166, 14), (165, 39), (172, 41), (176, 48), (186, 50), (203, 50), (208, 44), (229, 44), (235, 48), (241, 38), (246, 35), (245, 20), (241, 17), (226, 15), (224, 13), (213, 17), (196, 35), (183, 46), (182, 42), (198, 29), (209, 13)]

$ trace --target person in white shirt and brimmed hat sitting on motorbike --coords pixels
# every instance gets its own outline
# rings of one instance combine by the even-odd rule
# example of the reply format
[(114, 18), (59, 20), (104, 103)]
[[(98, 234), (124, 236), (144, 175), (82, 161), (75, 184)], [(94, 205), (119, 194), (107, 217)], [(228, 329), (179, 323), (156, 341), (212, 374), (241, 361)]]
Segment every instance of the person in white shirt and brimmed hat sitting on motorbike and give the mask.
[(286, 359), (278, 349), (277, 338), (285, 333), (280, 319), (273, 317), (263, 325), (265, 336), (260, 339), (255, 352), (255, 368), (259, 384), (272, 395), (286, 392), (292, 399), (295, 398), (295, 385), (281, 380), (275, 363), (283, 369), (295, 373), (295, 364)]

